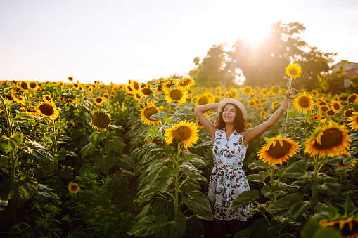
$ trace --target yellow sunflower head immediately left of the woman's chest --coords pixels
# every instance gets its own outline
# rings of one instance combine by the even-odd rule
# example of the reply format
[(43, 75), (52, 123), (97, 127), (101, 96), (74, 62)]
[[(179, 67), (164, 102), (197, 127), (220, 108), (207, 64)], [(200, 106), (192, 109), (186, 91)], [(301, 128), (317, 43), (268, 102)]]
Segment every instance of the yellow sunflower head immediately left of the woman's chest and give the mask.
[(174, 124), (173, 127), (167, 128), (165, 130), (165, 143), (169, 145), (172, 143), (174, 138), (181, 140), (184, 143), (184, 148), (191, 147), (199, 139), (198, 135), (198, 126), (193, 124), (193, 122), (180, 121), (177, 124)]

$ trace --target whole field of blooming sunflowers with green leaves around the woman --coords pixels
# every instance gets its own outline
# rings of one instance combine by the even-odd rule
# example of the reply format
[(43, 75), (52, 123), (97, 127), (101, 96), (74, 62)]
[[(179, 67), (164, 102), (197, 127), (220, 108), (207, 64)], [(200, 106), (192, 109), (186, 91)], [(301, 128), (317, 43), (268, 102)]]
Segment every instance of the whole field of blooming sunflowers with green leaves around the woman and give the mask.
[[(194, 107), (236, 98), (253, 128), (286, 90), (1, 81), (1, 236), (210, 237), (212, 139)], [(358, 95), (292, 92), (248, 143), (251, 190), (232, 209), (253, 204), (253, 216), (234, 237), (358, 237)]]

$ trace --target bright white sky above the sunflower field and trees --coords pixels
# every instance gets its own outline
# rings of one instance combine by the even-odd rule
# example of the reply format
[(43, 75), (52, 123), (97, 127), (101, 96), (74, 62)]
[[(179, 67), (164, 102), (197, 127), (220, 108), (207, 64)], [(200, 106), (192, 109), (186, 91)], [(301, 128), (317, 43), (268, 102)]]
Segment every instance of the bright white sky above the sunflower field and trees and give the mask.
[(0, 0), (0, 80), (82, 84), (186, 76), (193, 58), (281, 20), (340, 60), (358, 62), (358, 1)]

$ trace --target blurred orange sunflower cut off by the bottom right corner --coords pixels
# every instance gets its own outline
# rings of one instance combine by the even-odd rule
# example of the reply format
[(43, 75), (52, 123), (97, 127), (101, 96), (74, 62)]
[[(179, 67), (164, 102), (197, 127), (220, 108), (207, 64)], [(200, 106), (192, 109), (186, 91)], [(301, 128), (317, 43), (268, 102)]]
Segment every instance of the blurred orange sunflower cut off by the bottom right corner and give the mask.
[(340, 218), (335, 220), (320, 220), (319, 225), (322, 227), (333, 227), (339, 230), (342, 237), (356, 238), (358, 237), (358, 218)]

